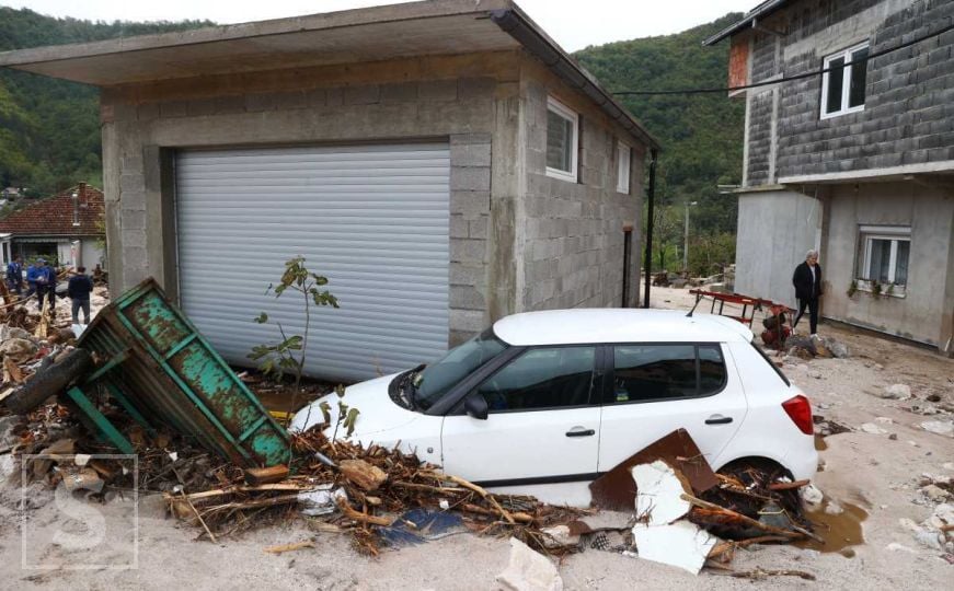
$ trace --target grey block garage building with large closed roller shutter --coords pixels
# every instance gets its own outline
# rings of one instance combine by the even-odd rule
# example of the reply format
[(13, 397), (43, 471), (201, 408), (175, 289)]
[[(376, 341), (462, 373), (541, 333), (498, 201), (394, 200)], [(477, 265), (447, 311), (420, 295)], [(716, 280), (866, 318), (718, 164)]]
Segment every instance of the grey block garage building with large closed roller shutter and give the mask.
[(156, 277), (234, 363), (340, 310), (308, 370), (433, 361), (514, 312), (637, 300), (655, 140), (508, 0), (438, 0), (0, 54), (102, 89), (113, 283)]

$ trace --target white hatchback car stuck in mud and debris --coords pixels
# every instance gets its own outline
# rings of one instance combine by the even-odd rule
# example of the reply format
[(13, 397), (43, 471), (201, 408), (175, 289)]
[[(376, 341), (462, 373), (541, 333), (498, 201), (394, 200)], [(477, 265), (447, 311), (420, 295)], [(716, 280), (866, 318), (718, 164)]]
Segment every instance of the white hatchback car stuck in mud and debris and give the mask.
[[(589, 482), (679, 428), (713, 470), (768, 461), (811, 478), (808, 399), (751, 340), (709, 314), (529, 312), (433, 364), (355, 384), (344, 402), (360, 410), (353, 438), (365, 444), (400, 444), (449, 474), (551, 502), (588, 505)], [(319, 404), (292, 429), (321, 422)]]

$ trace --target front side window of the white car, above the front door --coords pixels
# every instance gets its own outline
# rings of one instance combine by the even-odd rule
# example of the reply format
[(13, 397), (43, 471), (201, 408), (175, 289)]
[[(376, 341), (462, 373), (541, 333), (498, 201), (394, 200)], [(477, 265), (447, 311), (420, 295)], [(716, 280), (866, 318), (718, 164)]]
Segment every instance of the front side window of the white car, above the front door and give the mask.
[(596, 347), (530, 349), (478, 386), (491, 413), (584, 406)]

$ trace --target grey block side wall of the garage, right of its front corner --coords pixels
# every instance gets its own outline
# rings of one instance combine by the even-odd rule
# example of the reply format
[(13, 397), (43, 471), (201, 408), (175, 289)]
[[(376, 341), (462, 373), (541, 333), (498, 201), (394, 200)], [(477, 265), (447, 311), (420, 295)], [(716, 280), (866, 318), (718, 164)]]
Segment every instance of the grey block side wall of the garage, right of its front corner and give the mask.
[[(518, 310), (620, 306), (625, 225), (633, 228), (628, 305), (636, 305), (646, 148), (529, 58), (522, 63), (520, 95), (526, 171), (517, 217)], [(581, 115), (576, 183), (547, 175), (549, 95)], [(616, 190), (621, 139), (631, 147), (629, 195)]]

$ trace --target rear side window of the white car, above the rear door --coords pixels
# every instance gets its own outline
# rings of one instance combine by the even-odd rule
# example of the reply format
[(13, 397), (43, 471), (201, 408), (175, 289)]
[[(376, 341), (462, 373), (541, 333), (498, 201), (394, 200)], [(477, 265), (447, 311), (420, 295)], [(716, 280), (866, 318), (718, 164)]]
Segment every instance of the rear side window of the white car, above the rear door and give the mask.
[(613, 403), (709, 396), (725, 386), (719, 345), (622, 345), (613, 350)]

